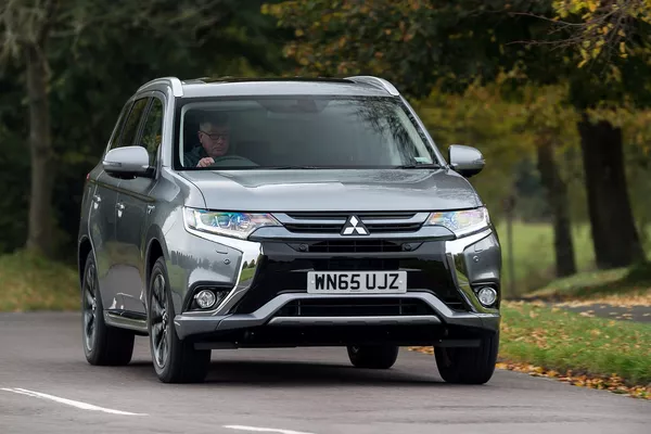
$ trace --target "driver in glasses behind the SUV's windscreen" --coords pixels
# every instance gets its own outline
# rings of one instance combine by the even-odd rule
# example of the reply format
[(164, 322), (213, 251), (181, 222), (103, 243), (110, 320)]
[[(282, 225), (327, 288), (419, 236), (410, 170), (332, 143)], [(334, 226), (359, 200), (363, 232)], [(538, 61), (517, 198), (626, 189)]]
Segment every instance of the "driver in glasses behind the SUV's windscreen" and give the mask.
[(228, 115), (225, 113), (204, 115), (199, 123), (197, 135), (201, 146), (196, 145), (184, 154), (186, 167), (208, 167), (215, 163), (214, 158), (226, 155), (230, 135)]

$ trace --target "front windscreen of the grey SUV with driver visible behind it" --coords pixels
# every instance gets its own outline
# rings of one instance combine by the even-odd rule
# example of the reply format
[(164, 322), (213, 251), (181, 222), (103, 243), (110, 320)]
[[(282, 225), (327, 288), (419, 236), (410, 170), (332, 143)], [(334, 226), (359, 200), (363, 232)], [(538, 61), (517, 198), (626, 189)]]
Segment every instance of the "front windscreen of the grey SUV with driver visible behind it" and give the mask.
[(275, 97), (189, 102), (179, 169), (383, 168), (435, 165), (400, 100)]

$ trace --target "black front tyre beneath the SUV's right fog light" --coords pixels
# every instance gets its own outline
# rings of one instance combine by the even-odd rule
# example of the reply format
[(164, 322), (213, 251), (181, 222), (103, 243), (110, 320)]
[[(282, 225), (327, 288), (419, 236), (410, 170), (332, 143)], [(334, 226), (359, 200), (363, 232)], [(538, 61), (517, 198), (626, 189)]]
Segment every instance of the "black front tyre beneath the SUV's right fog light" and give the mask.
[(495, 372), (498, 349), (499, 332), (482, 337), (478, 347), (435, 347), (434, 355), (438, 373), (447, 383), (487, 383)]

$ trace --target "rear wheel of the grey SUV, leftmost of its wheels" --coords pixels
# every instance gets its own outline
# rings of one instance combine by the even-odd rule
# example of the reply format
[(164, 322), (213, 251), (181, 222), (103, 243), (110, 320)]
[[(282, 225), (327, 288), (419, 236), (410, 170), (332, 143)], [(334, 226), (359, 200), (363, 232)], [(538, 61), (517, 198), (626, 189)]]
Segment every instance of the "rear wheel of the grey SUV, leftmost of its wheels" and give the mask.
[(94, 256), (90, 252), (81, 280), (81, 339), (86, 360), (93, 366), (124, 366), (133, 355), (133, 332), (107, 326)]

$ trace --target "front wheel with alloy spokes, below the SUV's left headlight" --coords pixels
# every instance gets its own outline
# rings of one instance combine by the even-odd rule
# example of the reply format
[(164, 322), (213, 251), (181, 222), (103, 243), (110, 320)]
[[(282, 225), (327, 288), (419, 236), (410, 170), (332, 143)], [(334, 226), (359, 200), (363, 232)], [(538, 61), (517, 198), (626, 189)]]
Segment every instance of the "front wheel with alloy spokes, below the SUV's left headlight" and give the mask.
[(201, 383), (210, 367), (210, 350), (194, 349), (190, 340), (178, 339), (167, 268), (162, 257), (150, 275), (148, 329), (156, 375), (163, 383)]

